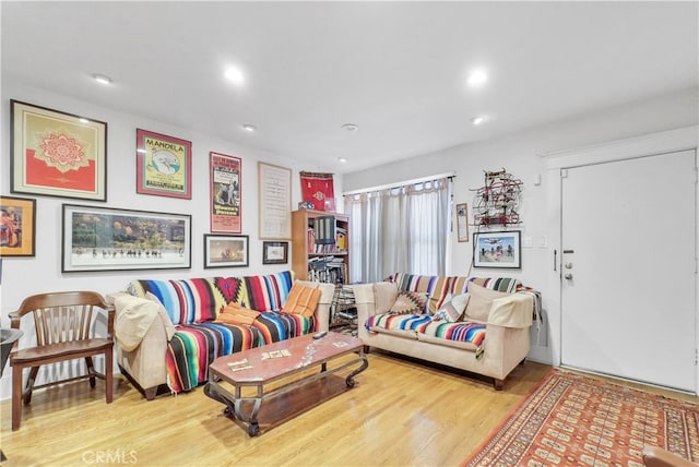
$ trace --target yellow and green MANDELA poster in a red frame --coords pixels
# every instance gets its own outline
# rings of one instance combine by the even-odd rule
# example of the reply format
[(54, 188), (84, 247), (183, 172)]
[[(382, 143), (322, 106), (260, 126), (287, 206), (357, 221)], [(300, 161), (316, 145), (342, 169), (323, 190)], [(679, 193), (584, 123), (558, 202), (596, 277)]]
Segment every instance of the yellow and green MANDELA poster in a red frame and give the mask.
[(192, 143), (141, 129), (137, 140), (137, 193), (192, 197)]

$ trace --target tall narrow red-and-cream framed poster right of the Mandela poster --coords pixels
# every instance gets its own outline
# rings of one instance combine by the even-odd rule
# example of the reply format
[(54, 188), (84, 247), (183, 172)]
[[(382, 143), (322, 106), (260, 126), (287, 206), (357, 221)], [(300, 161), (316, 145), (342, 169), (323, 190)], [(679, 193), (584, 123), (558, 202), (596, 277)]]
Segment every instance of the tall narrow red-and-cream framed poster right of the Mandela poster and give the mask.
[(242, 229), (242, 160), (225, 154), (209, 153), (211, 180), (211, 231), (240, 234)]

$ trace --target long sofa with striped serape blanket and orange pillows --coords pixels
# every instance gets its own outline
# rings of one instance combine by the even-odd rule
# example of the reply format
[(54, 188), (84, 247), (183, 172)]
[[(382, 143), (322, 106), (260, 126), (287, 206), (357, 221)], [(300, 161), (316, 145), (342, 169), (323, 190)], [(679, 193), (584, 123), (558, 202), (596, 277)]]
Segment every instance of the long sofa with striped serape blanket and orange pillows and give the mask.
[[(307, 297), (296, 291), (311, 289), (316, 301), (301, 303)], [(149, 400), (168, 390), (190, 391), (208, 381), (217, 357), (327, 331), (333, 292), (331, 284), (295, 282), (291, 271), (134, 279), (107, 296), (117, 312), (117, 363)], [(291, 301), (310, 303), (310, 312), (286, 310)]]

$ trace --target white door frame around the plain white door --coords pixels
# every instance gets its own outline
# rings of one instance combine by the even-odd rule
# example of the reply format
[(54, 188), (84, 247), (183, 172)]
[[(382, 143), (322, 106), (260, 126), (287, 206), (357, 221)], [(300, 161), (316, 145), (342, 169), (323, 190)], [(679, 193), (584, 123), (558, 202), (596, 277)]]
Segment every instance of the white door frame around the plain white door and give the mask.
[[(554, 367), (560, 367), (561, 337), (562, 337), (562, 320), (561, 320), (561, 296), (562, 296), (562, 178), (561, 170), (581, 167), (592, 164), (600, 164), (613, 160), (632, 159), (638, 157), (653, 156), (664, 153), (674, 153), (678, 151), (695, 151), (695, 157), (698, 157), (697, 148), (699, 146), (699, 125), (686, 127), (676, 130), (651, 133), (642, 136), (630, 137), (625, 140), (611, 141), (592, 146), (566, 149), (560, 152), (540, 154), (540, 157), (546, 161), (546, 199), (549, 234), (549, 258), (552, 266), (548, 268), (546, 277), (547, 290), (552, 290), (550, 297), (547, 298), (549, 307), (548, 326), (550, 348), (549, 357)], [(696, 218), (699, 219), (699, 196), (695, 191), (695, 208), (697, 211)], [(699, 235), (695, 235), (695, 248), (699, 254)], [(695, 295), (699, 294), (699, 274), (696, 275)], [(699, 349), (699, 297), (695, 296), (695, 313), (698, 316), (695, 320), (697, 343), (695, 348)], [(699, 371), (697, 373), (696, 391), (699, 392)]]

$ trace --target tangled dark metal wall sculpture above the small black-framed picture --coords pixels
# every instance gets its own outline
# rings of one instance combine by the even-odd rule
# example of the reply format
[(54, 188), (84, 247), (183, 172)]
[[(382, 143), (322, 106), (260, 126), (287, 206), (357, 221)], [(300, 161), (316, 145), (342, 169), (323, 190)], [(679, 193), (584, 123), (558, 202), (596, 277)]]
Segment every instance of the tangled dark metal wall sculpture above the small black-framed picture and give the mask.
[(473, 224), (476, 226), (520, 224), (522, 185), (522, 180), (512, 178), (505, 168), (500, 171), (486, 171), (484, 185), (472, 190), (476, 192), (473, 202)]

